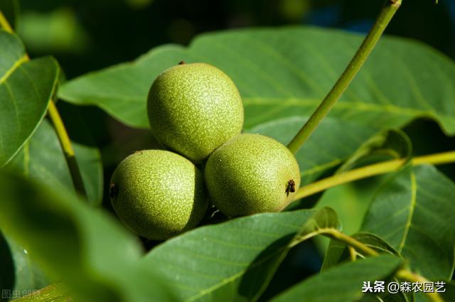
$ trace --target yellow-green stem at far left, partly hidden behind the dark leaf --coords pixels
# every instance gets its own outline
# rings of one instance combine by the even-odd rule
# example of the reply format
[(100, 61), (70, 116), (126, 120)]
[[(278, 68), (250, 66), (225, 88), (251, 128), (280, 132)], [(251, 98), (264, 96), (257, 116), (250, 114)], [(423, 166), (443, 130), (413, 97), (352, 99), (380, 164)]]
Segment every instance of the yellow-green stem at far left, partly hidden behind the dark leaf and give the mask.
[[(6, 20), (2, 11), (0, 11), (0, 26), (1, 28), (4, 28), (4, 30), (7, 31), (8, 33), (14, 33), (13, 28), (11, 28), (11, 26), (9, 25), (9, 22), (8, 20)], [(30, 60), (27, 54), (25, 55), (25, 60), (26, 61)], [(73, 146), (71, 145), (70, 137), (68, 136), (68, 131), (66, 131), (65, 129), (65, 125), (63, 124), (62, 118), (58, 113), (57, 107), (55, 107), (53, 99), (50, 99), (49, 101), (48, 114), (50, 120), (53, 122), (55, 132), (57, 133), (58, 140), (60, 141), (60, 145), (62, 146), (63, 153), (65, 154), (66, 163), (68, 165), (68, 170), (70, 171), (71, 179), (73, 180), (74, 188), (77, 191), (77, 193), (86, 198), (87, 193), (85, 192), (85, 187), (82, 181), (79, 166), (77, 166), (75, 152)]]

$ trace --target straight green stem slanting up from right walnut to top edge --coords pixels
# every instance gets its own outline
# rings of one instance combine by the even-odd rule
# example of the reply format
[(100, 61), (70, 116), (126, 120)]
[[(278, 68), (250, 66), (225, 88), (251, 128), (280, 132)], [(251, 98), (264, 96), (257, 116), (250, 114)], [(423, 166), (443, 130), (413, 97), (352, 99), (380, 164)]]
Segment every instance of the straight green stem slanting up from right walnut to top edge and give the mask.
[(333, 104), (335, 104), (341, 95), (343, 95), (343, 92), (349, 86), (363, 63), (365, 63), (368, 55), (370, 55), (371, 50), (373, 50), (376, 43), (378, 43), (380, 36), (395, 15), (397, 9), (400, 7), (401, 2), (402, 0), (388, 0), (388, 4), (380, 12), (375, 24), (370, 29), (370, 32), (365, 37), (362, 45), (360, 45), (360, 48), (358, 48), (357, 53), (355, 53), (346, 70), (344, 70), (341, 77), (336, 81), (331, 91), (328, 92), (328, 95), (326, 95), (321, 104), (319, 104), (319, 107), (311, 115), (306, 124), (300, 129), (299, 133), (297, 133), (296, 136), (294, 136), (294, 139), (288, 144), (287, 147), (292, 153), (296, 153), (301, 145), (309, 139), (309, 136), (311, 136), (313, 131), (319, 126), (319, 123), (321, 123), (323, 118), (326, 117), (331, 107), (333, 107)]

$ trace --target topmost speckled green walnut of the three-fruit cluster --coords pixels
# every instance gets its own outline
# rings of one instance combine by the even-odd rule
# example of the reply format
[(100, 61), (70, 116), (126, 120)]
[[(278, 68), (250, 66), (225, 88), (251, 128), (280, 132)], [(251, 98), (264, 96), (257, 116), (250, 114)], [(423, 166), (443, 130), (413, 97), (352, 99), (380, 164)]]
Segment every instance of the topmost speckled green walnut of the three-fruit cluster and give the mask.
[(151, 85), (147, 110), (157, 141), (196, 163), (243, 126), (242, 99), (234, 82), (205, 63), (162, 72)]

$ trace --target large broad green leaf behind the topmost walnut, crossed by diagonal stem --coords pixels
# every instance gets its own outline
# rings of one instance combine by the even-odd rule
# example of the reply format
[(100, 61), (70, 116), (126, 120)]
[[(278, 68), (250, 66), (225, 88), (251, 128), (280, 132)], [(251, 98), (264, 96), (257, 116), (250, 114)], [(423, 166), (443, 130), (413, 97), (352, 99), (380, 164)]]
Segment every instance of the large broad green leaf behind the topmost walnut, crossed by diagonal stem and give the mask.
[[(179, 61), (210, 63), (232, 77), (245, 104), (245, 128), (314, 111), (363, 36), (321, 28), (244, 29), (198, 36), (188, 48), (165, 45), (133, 63), (68, 82), (60, 97), (97, 104), (125, 124), (147, 127), (154, 78)], [(387, 74), (387, 77), (384, 75)], [(425, 45), (381, 39), (331, 117), (385, 129), (427, 116), (455, 133), (455, 66)], [(374, 122), (374, 123), (373, 123)]]

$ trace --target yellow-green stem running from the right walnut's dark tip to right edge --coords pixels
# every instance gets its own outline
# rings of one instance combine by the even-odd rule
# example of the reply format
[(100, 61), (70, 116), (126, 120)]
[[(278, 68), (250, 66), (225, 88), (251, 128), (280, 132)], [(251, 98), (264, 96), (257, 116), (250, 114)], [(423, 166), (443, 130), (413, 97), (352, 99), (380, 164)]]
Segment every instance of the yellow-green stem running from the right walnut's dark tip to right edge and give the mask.
[[(412, 166), (418, 166), (422, 164), (433, 164), (438, 165), (442, 163), (454, 163), (455, 162), (455, 151), (434, 153), (426, 156), (417, 156), (412, 158), (410, 164)], [(297, 191), (295, 200), (305, 198), (309, 195), (313, 195), (328, 188), (332, 188), (336, 185), (343, 183), (349, 183), (354, 180), (368, 178), (371, 176), (377, 176), (383, 173), (390, 173), (397, 171), (406, 163), (405, 159), (394, 159), (392, 161), (384, 161), (382, 163), (375, 163), (373, 165), (357, 168), (348, 172), (336, 174), (328, 178), (304, 185)]]

